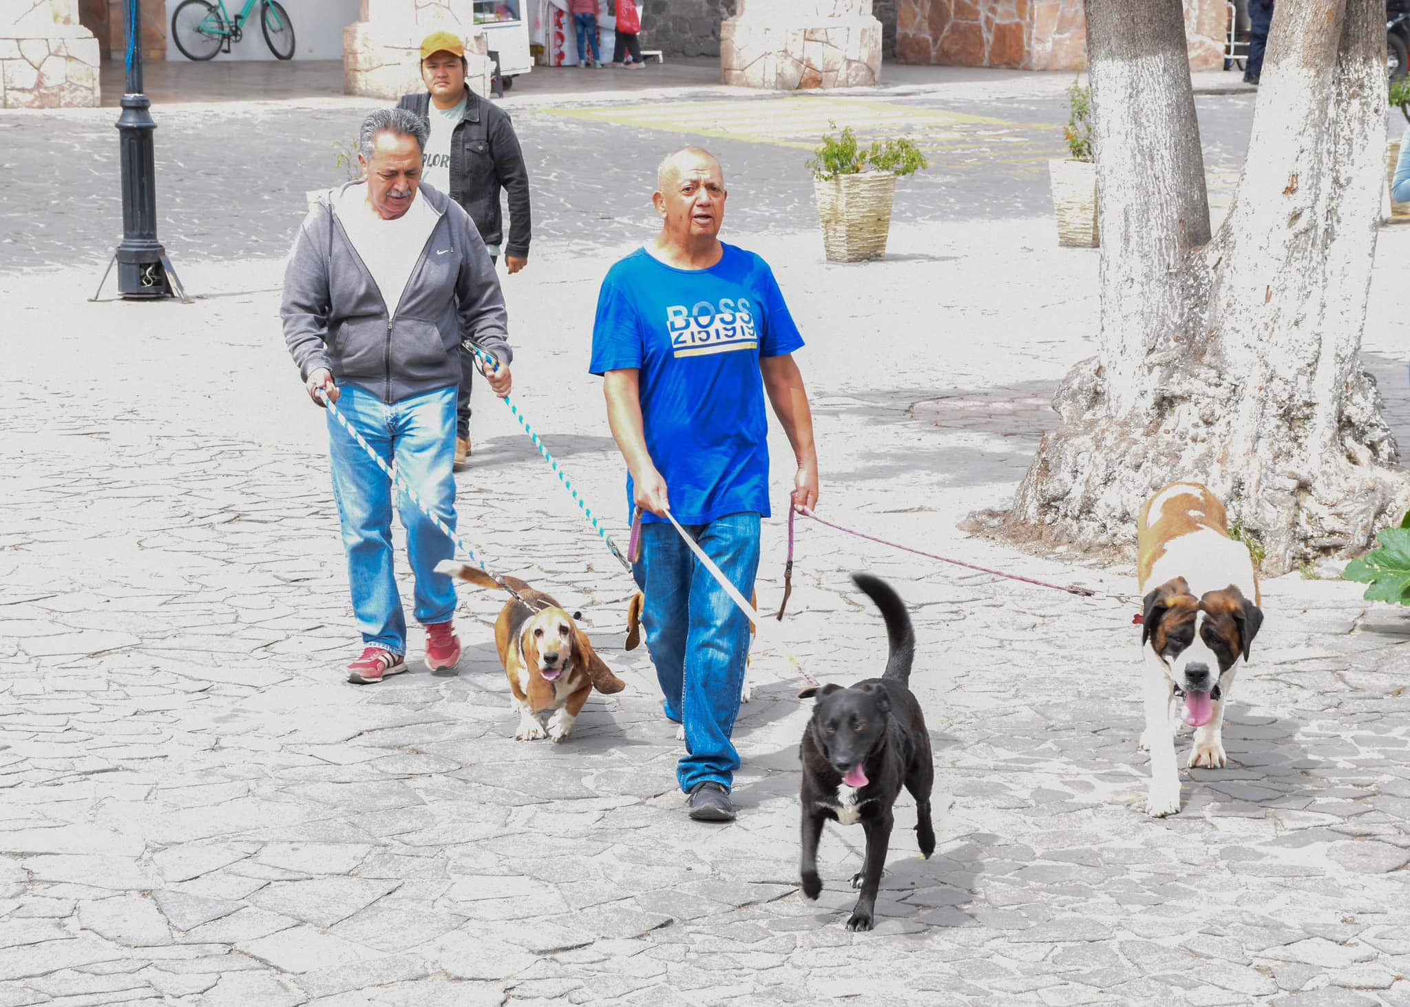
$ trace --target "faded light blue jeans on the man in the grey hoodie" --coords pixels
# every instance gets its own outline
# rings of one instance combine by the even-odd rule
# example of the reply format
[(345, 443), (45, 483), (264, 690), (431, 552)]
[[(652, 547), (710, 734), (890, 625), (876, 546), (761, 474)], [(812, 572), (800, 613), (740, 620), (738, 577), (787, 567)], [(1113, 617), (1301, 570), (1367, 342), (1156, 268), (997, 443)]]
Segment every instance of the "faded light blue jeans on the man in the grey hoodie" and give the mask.
[[(386, 405), (381, 398), (343, 385), (337, 401), (348, 423), (420, 495), (448, 527), (455, 527), (455, 386)], [(406, 653), (406, 615), (392, 568), (392, 484), (367, 451), (329, 413), (333, 496), (348, 554), (352, 614), (369, 646)], [(416, 577), (416, 621), (423, 626), (455, 615), (455, 584), (436, 573), (455, 544), (405, 494), (396, 502), (406, 529), (406, 551)]]

